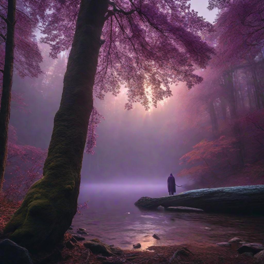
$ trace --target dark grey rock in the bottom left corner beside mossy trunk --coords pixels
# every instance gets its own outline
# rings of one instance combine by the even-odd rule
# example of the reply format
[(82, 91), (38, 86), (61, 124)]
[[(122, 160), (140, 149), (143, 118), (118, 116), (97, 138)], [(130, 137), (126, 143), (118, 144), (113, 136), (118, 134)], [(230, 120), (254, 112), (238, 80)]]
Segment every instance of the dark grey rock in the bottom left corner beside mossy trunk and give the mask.
[(33, 264), (26, 248), (10, 239), (0, 242), (0, 264)]

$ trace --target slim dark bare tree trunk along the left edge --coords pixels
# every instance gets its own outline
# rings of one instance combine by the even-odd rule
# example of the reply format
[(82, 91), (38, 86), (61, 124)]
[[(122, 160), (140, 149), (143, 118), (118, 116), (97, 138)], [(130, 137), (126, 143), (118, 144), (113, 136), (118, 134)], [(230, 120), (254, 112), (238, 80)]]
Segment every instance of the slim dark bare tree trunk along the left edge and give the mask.
[(0, 193), (3, 188), (4, 171), (6, 169), (8, 125), (10, 118), (11, 88), (14, 64), (16, 0), (8, 0), (7, 35), (3, 70), (3, 90), (0, 109)]

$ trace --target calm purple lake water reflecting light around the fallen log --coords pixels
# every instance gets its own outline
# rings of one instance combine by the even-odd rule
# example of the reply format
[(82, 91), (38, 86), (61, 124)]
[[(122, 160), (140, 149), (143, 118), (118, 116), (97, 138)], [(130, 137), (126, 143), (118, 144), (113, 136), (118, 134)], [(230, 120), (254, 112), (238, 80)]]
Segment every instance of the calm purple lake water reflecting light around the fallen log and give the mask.
[[(181, 192), (180, 190), (178, 192)], [(239, 237), (247, 242), (262, 242), (264, 217), (224, 214), (197, 214), (139, 209), (134, 202), (142, 196), (167, 195), (166, 184), (116, 185), (91, 184), (80, 190), (79, 203), (87, 200), (88, 209), (73, 219), (73, 229), (86, 228), (87, 239), (99, 238), (121, 248), (140, 243), (142, 249), (153, 245), (195, 242), (226, 242)], [(130, 213), (130, 214), (128, 214)], [(205, 230), (205, 227), (211, 230)], [(156, 233), (161, 240), (152, 235)]]

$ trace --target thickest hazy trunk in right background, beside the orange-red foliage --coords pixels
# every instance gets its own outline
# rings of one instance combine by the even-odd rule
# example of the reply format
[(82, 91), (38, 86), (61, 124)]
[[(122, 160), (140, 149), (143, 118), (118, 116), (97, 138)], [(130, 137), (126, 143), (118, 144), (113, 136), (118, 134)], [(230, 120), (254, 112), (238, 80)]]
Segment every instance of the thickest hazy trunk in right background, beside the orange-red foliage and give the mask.
[(236, 143), (236, 148), (238, 149), (237, 151), (238, 164), (240, 167), (242, 167), (244, 165), (244, 158), (243, 158), (244, 144), (240, 138), (241, 131), (239, 128), (239, 124), (237, 123), (238, 115), (237, 115), (237, 110), (235, 108), (234, 84), (233, 84), (232, 73), (227, 73), (225, 75), (225, 85), (227, 88), (227, 92), (229, 93), (230, 117), (234, 122), (233, 132), (235, 137), (238, 139), (238, 142)]

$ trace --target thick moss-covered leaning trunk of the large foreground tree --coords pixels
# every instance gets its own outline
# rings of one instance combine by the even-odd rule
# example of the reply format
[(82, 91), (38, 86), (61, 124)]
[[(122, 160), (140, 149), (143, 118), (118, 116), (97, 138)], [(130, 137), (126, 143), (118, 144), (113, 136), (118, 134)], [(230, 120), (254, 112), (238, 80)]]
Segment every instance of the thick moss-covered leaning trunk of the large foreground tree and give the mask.
[(44, 177), (30, 188), (4, 230), (8, 238), (31, 252), (58, 243), (77, 211), (83, 151), (107, 8), (107, 0), (81, 1)]

